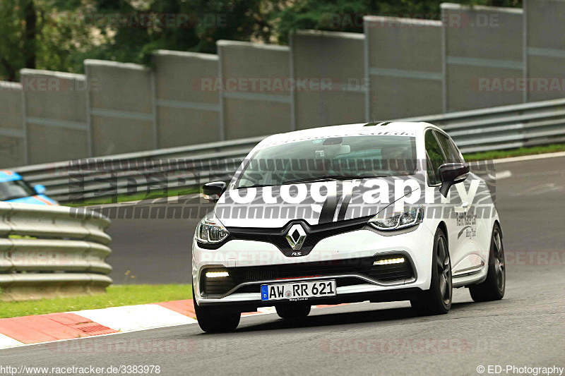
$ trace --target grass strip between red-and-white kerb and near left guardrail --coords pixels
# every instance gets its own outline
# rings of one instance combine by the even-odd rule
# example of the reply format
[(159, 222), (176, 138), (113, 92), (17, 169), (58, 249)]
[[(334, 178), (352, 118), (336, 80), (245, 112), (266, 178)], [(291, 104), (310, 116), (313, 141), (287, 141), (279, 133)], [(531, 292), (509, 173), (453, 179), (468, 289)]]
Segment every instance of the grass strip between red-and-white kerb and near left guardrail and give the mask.
[(109, 286), (107, 293), (74, 298), (42, 299), (40, 301), (1, 302), (0, 318), (42, 315), (45, 313), (93, 310), (192, 298), (188, 284), (130, 284)]

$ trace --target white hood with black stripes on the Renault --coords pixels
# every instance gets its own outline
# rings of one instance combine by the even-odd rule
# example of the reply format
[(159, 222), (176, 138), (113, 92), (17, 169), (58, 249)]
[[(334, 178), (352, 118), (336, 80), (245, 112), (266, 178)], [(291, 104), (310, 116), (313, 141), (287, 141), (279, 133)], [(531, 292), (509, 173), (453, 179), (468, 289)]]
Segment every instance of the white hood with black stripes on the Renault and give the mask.
[(414, 181), (402, 176), (230, 189), (214, 213), (227, 227), (280, 228), (298, 219), (314, 226), (374, 216), (419, 190)]

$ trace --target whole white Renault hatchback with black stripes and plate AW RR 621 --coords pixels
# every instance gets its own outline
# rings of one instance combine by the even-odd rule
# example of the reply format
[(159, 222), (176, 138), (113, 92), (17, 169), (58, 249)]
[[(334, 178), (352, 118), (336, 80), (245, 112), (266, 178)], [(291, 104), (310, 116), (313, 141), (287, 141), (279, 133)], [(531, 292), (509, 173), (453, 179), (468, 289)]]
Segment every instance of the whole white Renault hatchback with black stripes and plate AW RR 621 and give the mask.
[(298, 319), (311, 305), (359, 301), (441, 314), (454, 287), (475, 301), (501, 299), (493, 190), (429, 123), (272, 135), (229, 184), (203, 187), (216, 204), (192, 248), (198, 324), (223, 332), (262, 306)]

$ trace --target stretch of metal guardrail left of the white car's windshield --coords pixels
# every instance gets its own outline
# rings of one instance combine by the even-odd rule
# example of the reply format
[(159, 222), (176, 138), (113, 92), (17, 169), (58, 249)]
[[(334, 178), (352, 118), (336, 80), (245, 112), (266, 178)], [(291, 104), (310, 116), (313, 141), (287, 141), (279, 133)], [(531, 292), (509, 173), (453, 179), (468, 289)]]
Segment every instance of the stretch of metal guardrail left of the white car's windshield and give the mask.
[[(13, 170), (31, 184), (44, 185), (47, 195), (61, 202), (107, 198), (165, 187), (199, 186), (210, 175), (217, 180), (229, 181), (235, 170), (230, 167), (241, 163), (249, 150), (265, 137), (37, 164)], [(92, 168), (96, 161), (101, 162), (100, 166)], [(102, 162), (106, 166), (102, 166)], [(144, 167), (129, 168), (136, 164)], [(116, 169), (116, 166), (126, 167)]]

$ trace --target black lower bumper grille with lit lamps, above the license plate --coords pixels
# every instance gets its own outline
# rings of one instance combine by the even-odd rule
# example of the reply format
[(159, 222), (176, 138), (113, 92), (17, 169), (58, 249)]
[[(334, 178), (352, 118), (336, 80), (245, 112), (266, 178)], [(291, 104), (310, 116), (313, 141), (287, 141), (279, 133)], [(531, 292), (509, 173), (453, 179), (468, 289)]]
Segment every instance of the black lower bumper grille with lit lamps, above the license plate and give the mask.
[[(373, 265), (375, 260), (383, 257), (405, 257), (402, 264)], [(206, 272), (227, 271), (230, 277), (207, 278)], [(400, 281), (414, 276), (412, 264), (403, 254), (388, 254), (381, 257), (362, 257), (347, 260), (333, 260), (326, 262), (302, 262), (297, 264), (268, 265), (261, 267), (227, 267), (208, 268), (201, 272), (201, 291), (208, 295), (220, 296), (244, 282), (266, 281), (298, 277), (324, 277), (338, 274), (362, 274), (377, 281)], [(355, 282), (356, 281), (356, 282)], [(359, 279), (347, 277), (337, 279), (336, 284), (350, 286), (362, 283)], [(237, 292), (260, 292), (260, 284), (242, 286)]]

